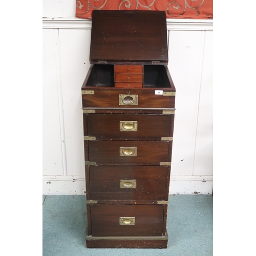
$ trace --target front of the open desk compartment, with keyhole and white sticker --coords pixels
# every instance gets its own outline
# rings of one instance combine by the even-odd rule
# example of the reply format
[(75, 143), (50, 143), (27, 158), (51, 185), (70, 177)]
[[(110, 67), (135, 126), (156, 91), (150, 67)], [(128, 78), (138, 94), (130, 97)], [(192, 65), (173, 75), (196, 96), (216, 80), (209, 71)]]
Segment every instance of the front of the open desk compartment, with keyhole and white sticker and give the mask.
[[(82, 94), (83, 108), (175, 108), (175, 96), (163, 96), (158, 91), (170, 92), (168, 89), (99, 89), (93, 88), (90, 94)], [(136, 101), (119, 104), (120, 95), (137, 95)], [(125, 97), (123, 97), (125, 98)], [(134, 103), (133, 103), (134, 102)]]

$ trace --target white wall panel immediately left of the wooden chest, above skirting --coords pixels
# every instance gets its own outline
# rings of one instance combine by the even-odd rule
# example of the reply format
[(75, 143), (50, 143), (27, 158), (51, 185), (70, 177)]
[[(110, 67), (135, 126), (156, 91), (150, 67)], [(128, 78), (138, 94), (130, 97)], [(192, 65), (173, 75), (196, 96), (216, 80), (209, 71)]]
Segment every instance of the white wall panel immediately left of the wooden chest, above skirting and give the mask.
[(68, 176), (84, 175), (81, 84), (89, 69), (91, 30), (59, 29), (62, 109)]

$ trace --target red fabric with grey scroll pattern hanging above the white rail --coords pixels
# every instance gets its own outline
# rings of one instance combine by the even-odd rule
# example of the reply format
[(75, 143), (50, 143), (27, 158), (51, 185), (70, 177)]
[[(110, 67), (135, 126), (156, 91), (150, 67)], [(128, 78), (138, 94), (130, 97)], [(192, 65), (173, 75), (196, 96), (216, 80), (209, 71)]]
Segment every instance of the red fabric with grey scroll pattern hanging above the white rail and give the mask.
[(93, 10), (165, 11), (166, 18), (212, 19), (213, 0), (79, 0), (76, 17), (92, 19)]

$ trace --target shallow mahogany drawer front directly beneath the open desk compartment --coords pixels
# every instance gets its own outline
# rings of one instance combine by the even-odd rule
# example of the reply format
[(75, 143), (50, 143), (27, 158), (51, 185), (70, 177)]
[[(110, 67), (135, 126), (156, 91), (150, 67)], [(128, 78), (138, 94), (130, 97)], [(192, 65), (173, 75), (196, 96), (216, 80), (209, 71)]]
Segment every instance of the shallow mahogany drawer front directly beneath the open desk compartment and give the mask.
[(169, 137), (174, 115), (88, 114), (88, 134), (93, 137)]

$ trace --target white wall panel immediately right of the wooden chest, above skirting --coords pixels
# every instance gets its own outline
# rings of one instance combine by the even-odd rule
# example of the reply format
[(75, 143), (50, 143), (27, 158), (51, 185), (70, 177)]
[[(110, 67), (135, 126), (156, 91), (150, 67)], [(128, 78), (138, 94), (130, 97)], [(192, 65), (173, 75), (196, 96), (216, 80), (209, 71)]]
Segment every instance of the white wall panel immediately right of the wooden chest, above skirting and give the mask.
[[(193, 175), (203, 31), (169, 31), (169, 71), (176, 86), (172, 174)], [(178, 127), (178, 128), (177, 128)], [(177, 144), (178, 143), (178, 144)]]

